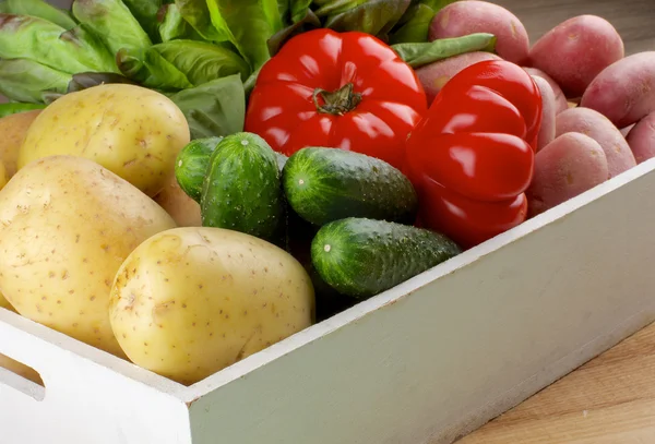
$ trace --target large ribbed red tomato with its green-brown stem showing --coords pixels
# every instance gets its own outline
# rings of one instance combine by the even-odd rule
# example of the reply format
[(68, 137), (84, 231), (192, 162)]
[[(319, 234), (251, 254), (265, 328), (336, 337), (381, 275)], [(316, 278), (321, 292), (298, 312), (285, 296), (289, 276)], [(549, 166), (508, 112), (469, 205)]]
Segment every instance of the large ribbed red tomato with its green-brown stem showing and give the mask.
[(414, 70), (372, 35), (321, 28), (287, 41), (259, 73), (246, 131), (290, 156), (306, 146), (364, 153), (400, 168), (428, 110)]

